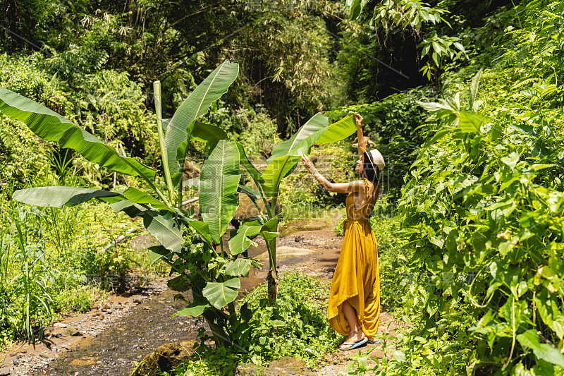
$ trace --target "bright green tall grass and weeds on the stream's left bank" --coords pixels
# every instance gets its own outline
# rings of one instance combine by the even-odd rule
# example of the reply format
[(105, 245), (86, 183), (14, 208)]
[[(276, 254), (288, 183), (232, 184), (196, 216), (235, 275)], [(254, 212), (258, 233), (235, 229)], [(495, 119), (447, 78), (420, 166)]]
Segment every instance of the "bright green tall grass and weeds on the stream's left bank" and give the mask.
[(104, 205), (28, 207), (11, 200), (12, 191), (0, 186), (0, 346), (35, 341), (59, 313), (83, 312), (107, 296), (103, 286), (89, 284), (89, 275), (149, 265), (146, 253), (126, 244), (100, 252), (135, 226)]

